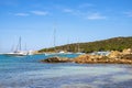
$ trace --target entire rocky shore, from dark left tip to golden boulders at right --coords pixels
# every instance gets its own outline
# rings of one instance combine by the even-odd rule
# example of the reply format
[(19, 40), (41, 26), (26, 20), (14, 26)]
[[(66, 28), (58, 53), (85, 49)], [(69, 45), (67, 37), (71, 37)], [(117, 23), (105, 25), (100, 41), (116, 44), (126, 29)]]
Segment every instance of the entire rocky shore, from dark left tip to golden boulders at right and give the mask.
[(76, 58), (50, 57), (42, 63), (77, 63), (77, 64), (132, 64), (132, 48), (123, 52), (112, 51), (109, 55), (84, 54)]

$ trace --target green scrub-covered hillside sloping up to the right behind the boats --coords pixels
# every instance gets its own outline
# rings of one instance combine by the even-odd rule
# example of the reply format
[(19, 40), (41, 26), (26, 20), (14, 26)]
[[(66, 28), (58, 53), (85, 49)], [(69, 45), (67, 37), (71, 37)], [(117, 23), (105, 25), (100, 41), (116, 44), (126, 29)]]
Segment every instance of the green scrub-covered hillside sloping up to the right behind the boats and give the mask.
[(43, 52), (58, 52), (58, 51), (66, 51), (66, 52), (82, 52), (82, 53), (91, 53), (91, 52), (99, 52), (99, 51), (122, 51), (124, 48), (132, 48), (132, 36), (130, 37), (113, 37), (103, 41), (96, 41), (89, 43), (75, 43), (75, 44), (67, 44), (62, 46), (51, 47), (51, 48), (43, 48), (40, 50), (40, 53)]

